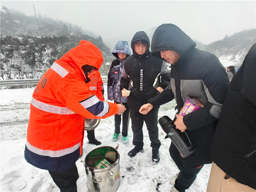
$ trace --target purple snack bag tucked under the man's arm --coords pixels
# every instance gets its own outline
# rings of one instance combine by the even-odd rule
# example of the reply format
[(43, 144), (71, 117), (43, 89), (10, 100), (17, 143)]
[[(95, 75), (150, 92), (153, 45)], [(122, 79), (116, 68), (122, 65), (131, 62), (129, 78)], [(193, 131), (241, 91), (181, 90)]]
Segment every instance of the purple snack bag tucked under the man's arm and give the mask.
[(204, 107), (204, 104), (197, 100), (194, 97), (187, 97), (186, 98), (186, 103), (184, 104), (184, 106), (181, 108), (180, 110), (180, 114), (181, 116), (187, 115), (193, 111), (196, 111), (199, 108)]

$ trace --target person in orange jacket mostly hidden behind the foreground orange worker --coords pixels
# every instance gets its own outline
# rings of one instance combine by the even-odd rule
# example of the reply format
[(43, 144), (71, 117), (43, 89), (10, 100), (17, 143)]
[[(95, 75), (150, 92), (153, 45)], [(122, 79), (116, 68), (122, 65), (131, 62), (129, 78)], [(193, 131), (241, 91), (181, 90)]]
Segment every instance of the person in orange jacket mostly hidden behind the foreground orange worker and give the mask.
[[(87, 75), (88, 75), (88, 78), (91, 80), (88, 83), (86, 83), (86, 85), (89, 86), (90, 92), (96, 95), (99, 100), (105, 101), (104, 86), (103, 86), (102, 78), (100, 76), (100, 71), (96, 67), (93, 67), (91, 72), (87, 72)], [(86, 132), (87, 132), (87, 138), (89, 140), (89, 144), (101, 145), (101, 142), (95, 139), (94, 129)]]

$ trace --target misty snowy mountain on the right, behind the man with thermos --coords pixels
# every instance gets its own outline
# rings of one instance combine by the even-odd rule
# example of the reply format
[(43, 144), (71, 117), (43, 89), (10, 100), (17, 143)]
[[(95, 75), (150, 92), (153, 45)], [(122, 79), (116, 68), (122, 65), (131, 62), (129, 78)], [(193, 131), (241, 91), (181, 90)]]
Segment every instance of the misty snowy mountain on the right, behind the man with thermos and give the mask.
[[(157, 27), (145, 31), (151, 40)], [(222, 40), (214, 41), (208, 45), (196, 42), (196, 48), (213, 53), (216, 55), (222, 65), (226, 68), (230, 65), (238, 68), (242, 65), (244, 57), (256, 43), (256, 29), (244, 30), (233, 35), (226, 35)]]

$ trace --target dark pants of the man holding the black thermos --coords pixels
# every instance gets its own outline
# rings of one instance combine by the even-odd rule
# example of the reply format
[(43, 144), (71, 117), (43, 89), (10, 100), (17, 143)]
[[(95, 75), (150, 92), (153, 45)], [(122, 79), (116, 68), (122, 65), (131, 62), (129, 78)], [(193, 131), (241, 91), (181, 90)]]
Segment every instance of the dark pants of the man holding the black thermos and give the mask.
[[(172, 160), (177, 165), (180, 170), (178, 178), (175, 180), (174, 187), (180, 191), (184, 192), (188, 189), (192, 183), (196, 180), (197, 173), (203, 168), (202, 164), (190, 164), (184, 161), (183, 157), (181, 157), (180, 152), (175, 147), (173, 143), (169, 148), (170, 155)], [(189, 158), (189, 157), (186, 157)]]

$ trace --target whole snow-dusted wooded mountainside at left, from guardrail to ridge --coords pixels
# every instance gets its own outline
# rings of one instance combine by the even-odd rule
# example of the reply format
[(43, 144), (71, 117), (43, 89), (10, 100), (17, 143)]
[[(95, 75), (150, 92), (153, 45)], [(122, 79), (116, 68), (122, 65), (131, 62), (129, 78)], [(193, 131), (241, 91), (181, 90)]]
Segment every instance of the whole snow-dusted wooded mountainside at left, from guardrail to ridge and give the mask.
[[(1, 8), (1, 79), (41, 78), (54, 60), (60, 59), (83, 40), (91, 41), (102, 55), (101, 75), (107, 75), (114, 60), (101, 36), (84, 32), (80, 26), (48, 17), (26, 16), (22, 12)], [(88, 35), (91, 34), (92, 36)]]

